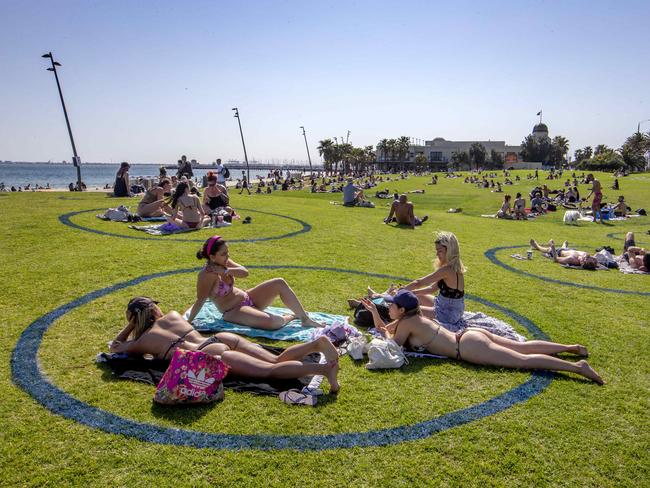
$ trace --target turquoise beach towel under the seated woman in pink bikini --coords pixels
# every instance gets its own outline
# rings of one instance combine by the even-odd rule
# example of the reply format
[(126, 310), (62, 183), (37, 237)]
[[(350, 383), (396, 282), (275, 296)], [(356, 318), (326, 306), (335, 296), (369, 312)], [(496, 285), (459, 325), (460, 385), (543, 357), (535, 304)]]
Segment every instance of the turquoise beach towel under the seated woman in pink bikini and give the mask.
[[(189, 317), (190, 309), (183, 315), (186, 319)], [(285, 315), (292, 313), (288, 308), (267, 307), (267, 313), (274, 315)], [(346, 328), (351, 328), (360, 333), (353, 326), (349, 325), (348, 318), (344, 315), (334, 315), (322, 312), (308, 312), (309, 317), (316, 322), (326, 326), (334, 326), (337, 322), (344, 323)], [(292, 320), (287, 325), (278, 330), (262, 330), (247, 327), (245, 325), (233, 324), (223, 320), (223, 314), (216, 305), (207, 300), (201, 310), (194, 318), (192, 323), (194, 328), (199, 332), (232, 332), (234, 334), (245, 335), (248, 337), (264, 337), (276, 341), (300, 341), (308, 342), (321, 335), (323, 331), (320, 328), (303, 327), (300, 320)]]

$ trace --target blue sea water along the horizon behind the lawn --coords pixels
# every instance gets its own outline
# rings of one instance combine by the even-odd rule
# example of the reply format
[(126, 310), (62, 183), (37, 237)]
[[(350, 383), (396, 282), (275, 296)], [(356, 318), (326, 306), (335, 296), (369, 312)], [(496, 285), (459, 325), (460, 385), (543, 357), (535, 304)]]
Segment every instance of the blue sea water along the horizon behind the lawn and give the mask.
[[(105, 185), (113, 186), (115, 182), (115, 173), (119, 169), (119, 164), (82, 164), (81, 180), (88, 188), (103, 188)], [(131, 165), (129, 176), (133, 179), (137, 176), (156, 177), (159, 173), (160, 165), (157, 164), (137, 164)], [(209, 170), (195, 169), (194, 176), (201, 178)], [(266, 177), (267, 171), (251, 170), (251, 180), (256, 181), (258, 176)], [(174, 170), (167, 170), (170, 176), (175, 174)], [(231, 178), (241, 175), (241, 170), (231, 170)], [(5, 186), (25, 187), (31, 184), (46, 186), (48, 183), (51, 188), (68, 188), (70, 183), (76, 183), (77, 169), (72, 164), (61, 163), (0, 163), (0, 183)]]

